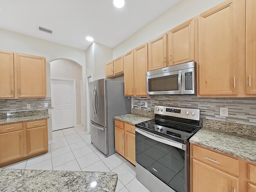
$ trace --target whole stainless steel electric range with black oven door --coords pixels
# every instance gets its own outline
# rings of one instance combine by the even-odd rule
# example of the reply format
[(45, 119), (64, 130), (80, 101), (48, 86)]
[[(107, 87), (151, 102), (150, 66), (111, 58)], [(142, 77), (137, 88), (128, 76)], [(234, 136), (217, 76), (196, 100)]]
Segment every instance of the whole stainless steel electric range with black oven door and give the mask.
[(136, 178), (152, 192), (189, 192), (189, 138), (200, 110), (155, 106), (155, 118), (135, 125)]

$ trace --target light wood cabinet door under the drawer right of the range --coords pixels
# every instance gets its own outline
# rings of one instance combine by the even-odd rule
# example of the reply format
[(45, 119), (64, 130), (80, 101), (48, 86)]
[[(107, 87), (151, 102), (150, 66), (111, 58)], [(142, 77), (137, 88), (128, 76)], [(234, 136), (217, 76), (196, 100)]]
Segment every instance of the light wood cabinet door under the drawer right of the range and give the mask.
[(233, 192), (238, 190), (238, 178), (197, 160), (193, 159), (192, 161), (193, 192)]

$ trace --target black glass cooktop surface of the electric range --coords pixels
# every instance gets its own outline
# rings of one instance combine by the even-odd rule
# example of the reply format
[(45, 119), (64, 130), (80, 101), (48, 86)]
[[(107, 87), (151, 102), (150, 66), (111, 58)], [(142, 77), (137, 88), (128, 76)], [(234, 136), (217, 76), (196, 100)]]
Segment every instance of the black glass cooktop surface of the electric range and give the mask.
[[(193, 124), (193, 122), (191, 123)], [(189, 122), (174, 122), (163, 119), (152, 119), (135, 125), (137, 128), (175, 140), (185, 144), (199, 129), (198, 126), (190, 125)]]

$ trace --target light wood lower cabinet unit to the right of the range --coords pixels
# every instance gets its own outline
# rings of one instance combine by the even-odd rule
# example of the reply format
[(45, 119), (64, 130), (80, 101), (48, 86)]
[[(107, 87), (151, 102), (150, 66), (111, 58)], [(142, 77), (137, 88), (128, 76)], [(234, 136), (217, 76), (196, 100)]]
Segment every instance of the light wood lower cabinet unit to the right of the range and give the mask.
[(256, 192), (256, 164), (190, 145), (190, 192)]

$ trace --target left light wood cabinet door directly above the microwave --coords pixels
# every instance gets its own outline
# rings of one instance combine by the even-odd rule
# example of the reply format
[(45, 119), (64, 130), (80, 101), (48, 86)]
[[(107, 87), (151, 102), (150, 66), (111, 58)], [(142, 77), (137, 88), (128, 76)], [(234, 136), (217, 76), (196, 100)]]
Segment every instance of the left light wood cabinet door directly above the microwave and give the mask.
[(166, 64), (166, 34), (148, 42), (148, 70), (164, 68)]

